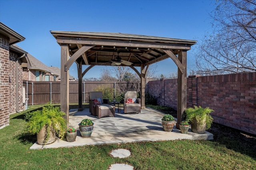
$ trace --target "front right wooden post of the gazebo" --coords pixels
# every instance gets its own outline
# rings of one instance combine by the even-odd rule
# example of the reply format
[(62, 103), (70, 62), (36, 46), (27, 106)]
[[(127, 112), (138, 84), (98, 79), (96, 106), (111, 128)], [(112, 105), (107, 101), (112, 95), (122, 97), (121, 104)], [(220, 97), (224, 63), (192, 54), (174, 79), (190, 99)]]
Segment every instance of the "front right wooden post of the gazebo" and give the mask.
[(180, 129), (179, 123), (182, 120), (182, 114), (187, 107), (187, 51), (178, 51), (178, 60), (184, 68), (183, 74), (178, 67), (178, 106), (177, 106), (177, 124), (176, 128)]

